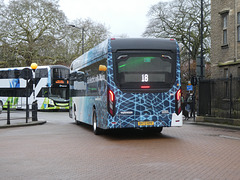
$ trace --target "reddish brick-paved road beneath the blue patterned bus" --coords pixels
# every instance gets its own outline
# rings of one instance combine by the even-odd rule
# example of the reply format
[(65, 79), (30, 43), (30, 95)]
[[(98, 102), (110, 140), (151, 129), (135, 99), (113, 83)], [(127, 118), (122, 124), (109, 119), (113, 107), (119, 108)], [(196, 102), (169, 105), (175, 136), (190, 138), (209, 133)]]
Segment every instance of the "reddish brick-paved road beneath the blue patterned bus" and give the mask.
[(96, 136), (67, 112), (47, 123), (0, 129), (0, 179), (239, 180), (240, 131), (184, 124), (162, 134)]

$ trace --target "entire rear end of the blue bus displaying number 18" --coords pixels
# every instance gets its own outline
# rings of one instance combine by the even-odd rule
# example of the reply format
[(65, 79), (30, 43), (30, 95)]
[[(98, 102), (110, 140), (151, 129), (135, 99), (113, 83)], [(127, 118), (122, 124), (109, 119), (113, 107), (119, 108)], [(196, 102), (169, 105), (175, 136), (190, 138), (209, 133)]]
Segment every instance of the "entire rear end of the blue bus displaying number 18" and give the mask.
[(180, 58), (174, 39), (111, 39), (108, 128), (182, 126)]

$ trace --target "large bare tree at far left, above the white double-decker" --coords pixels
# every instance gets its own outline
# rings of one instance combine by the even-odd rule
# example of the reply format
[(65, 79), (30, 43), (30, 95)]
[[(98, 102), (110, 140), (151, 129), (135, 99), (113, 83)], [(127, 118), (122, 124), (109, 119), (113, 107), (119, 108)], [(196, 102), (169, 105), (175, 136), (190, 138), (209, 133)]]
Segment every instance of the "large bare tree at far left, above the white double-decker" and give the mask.
[(14, 54), (16, 64), (55, 60), (44, 51), (56, 48), (64, 38), (67, 22), (55, 0), (12, 0), (3, 10), (2, 44)]

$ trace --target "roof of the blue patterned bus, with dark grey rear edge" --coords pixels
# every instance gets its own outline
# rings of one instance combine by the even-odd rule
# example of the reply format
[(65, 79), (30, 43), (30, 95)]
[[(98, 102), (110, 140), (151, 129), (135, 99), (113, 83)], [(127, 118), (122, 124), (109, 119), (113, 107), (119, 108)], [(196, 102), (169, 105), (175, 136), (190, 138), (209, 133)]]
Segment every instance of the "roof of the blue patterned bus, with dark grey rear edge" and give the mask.
[[(108, 46), (110, 44), (110, 47)], [(90, 49), (71, 64), (71, 70), (84, 68), (103, 57), (107, 57), (108, 51), (116, 52), (118, 50), (170, 50), (176, 51), (175, 39), (160, 38), (111, 38), (106, 39), (94, 48)]]

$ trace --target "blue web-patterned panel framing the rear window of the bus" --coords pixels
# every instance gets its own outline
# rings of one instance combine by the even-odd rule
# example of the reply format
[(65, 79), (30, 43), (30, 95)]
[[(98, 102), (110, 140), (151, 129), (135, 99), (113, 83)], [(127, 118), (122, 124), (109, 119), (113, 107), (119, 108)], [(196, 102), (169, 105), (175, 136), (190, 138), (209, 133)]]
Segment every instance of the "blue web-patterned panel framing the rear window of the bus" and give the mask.
[[(154, 121), (154, 127), (170, 127), (175, 112), (175, 93), (181, 87), (179, 47), (177, 45), (177, 73), (174, 86), (164, 93), (124, 93), (117, 88), (113, 77), (111, 44), (108, 46), (108, 86), (116, 99), (116, 116), (108, 114), (108, 128), (136, 128), (139, 121)], [(133, 112), (134, 114), (121, 114)], [(166, 113), (167, 112), (167, 113)], [(150, 115), (149, 115), (150, 114)]]

